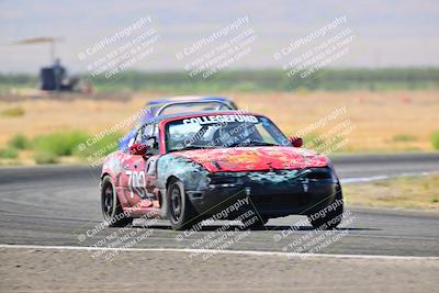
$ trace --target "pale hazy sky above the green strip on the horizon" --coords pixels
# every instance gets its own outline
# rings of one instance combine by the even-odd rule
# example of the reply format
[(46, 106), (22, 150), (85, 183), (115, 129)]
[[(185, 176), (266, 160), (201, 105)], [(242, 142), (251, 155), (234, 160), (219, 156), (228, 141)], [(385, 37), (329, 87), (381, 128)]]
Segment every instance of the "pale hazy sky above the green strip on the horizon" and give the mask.
[(344, 15), (344, 25), (353, 32), (354, 41), (349, 53), (330, 66), (439, 66), (439, 1), (434, 0), (0, 0), (0, 71), (37, 72), (46, 65), (47, 44), (11, 45), (36, 36), (64, 37), (57, 55), (72, 71), (86, 71), (88, 64), (79, 60), (80, 52), (148, 15), (148, 27), (154, 27), (160, 40), (154, 54), (133, 64), (140, 70), (183, 69), (185, 63), (176, 59), (177, 53), (245, 16), (257, 40), (251, 53), (232, 68), (281, 68), (273, 58), (275, 52)]

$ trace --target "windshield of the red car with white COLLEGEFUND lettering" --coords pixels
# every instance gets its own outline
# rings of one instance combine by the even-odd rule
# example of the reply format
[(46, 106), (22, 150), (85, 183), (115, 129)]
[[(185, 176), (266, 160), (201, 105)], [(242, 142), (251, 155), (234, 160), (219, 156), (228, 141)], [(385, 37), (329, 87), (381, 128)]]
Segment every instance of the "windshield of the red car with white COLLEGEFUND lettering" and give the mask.
[(205, 115), (167, 124), (168, 151), (246, 146), (290, 145), (267, 117), (248, 114)]

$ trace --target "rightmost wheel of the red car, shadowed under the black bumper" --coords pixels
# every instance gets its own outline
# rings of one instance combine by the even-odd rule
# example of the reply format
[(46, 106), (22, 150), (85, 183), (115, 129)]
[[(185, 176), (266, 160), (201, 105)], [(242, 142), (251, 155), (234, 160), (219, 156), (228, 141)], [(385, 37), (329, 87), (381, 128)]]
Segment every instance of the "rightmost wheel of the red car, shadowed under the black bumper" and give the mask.
[[(336, 194), (335, 200), (328, 205), (330, 206), (331, 204), (338, 202), (339, 204), (335, 207), (331, 209), (330, 211), (324, 213), (324, 216), (319, 215), (319, 213), (314, 213), (312, 215), (308, 215), (308, 219), (311, 222), (311, 225), (313, 225), (314, 228), (316, 229), (334, 229), (336, 228), (342, 219), (342, 213), (344, 213), (344, 200), (342, 200), (342, 193), (341, 189), (339, 188)], [(326, 206), (326, 207), (328, 207)], [(325, 209), (322, 209), (319, 212), (325, 211)], [(318, 217), (316, 217), (318, 215)]]

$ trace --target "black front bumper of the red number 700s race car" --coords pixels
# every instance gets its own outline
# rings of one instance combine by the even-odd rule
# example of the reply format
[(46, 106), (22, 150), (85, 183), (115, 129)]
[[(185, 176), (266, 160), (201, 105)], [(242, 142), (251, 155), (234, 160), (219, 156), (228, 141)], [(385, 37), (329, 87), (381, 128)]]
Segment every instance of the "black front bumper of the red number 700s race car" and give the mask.
[(199, 214), (212, 216), (248, 199), (245, 210), (261, 216), (309, 215), (331, 204), (341, 188), (331, 168), (227, 173), (202, 191), (187, 191)]

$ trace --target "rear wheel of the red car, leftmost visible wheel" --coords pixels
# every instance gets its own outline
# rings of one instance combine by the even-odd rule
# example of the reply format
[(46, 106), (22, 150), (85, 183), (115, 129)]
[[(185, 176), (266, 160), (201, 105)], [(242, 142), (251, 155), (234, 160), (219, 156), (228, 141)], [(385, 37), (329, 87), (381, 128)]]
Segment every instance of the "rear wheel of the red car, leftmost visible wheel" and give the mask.
[(133, 218), (126, 216), (122, 210), (110, 176), (105, 176), (102, 179), (101, 207), (103, 218), (109, 223), (110, 227), (125, 227), (133, 223)]

